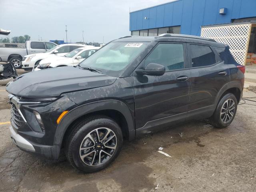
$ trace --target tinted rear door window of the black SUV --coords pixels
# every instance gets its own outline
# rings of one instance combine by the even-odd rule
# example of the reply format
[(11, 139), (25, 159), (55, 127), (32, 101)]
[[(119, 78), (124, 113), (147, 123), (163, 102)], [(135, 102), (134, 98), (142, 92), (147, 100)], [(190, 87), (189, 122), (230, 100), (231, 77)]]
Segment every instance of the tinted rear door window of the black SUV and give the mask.
[(216, 63), (216, 56), (209, 46), (190, 44), (192, 67), (209, 66)]

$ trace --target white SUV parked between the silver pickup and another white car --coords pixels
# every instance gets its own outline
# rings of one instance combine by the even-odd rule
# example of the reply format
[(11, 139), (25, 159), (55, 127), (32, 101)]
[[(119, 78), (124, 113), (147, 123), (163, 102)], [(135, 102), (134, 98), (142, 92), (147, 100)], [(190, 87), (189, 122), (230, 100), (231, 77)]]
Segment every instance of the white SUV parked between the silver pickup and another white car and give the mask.
[(38, 65), (39, 62), (45, 58), (54, 57), (54, 56), (63, 56), (74, 49), (77, 49), (79, 47), (86, 47), (86, 46), (88, 45), (73, 44), (73, 43), (62, 44), (62, 45), (53, 47), (44, 53), (26, 55), (22, 60), (22, 68), (24, 68), (25, 70), (31, 70), (34, 68), (35, 65)]

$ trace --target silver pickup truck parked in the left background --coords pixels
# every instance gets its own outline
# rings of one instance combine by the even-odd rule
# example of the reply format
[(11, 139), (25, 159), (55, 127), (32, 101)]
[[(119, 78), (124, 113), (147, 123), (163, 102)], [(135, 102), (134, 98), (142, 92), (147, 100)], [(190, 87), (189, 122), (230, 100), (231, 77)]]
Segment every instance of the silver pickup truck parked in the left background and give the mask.
[(0, 61), (10, 62), (15, 68), (21, 68), (22, 58), (25, 55), (46, 52), (56, 45), (53, 42), (26, 41), (24, 48), (7, 48), (3, 44), (0, 46)]

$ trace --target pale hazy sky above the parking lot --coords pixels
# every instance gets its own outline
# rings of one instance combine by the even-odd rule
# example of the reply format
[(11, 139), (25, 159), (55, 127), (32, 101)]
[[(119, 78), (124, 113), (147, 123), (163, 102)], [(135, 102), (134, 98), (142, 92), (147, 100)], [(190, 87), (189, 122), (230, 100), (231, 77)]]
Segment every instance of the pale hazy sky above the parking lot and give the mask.
[[(32, 40), (109, 42), (130, 35), (131, 11), (172, 0), (0, 0), (0, 28), (12, 36), (28, 34)], [(0, 38), (5, 36), (0, 35)]]

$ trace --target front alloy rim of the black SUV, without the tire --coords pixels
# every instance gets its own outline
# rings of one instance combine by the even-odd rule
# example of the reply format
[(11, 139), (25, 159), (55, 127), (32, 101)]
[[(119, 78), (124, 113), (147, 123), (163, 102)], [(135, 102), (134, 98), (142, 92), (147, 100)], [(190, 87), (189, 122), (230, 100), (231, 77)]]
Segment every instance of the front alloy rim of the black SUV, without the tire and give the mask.
[(117, 146), (116, 134), (109, 128), (96, 128), (88, 133), (81, 142), (81, 160), (89, 166), (99, 166), (107, 162)]

